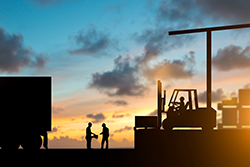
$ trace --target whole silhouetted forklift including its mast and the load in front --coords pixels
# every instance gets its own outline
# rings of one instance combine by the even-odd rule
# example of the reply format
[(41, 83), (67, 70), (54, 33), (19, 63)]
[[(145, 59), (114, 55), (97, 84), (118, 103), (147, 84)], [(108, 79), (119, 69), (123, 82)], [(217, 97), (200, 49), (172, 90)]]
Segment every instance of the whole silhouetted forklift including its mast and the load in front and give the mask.
[[(211, 107), (201, 108), (198, 106), (198, 96), (196, 89), (174, 89), (168, 103), (168, 110), (165, 111), (166, 90), (162, 97), (162, 83), (158, 80), (158, 115), (157, 116), (136, 116), (135, 127), (158, 129), (163, 125), (165, 131), (171, 131), (174, 127), (201, 127), (202, 130), (213, 130), (216, 127), (216, 111)], [(187, 94), (187, 100), (181, 109), (179, 94)], [(182, 111), (180, 111), (182, 110)], [(167, 114), (167, 118), (162, 120), (162, 113)], [(158, 126), (159, 124), (159, 126)]]

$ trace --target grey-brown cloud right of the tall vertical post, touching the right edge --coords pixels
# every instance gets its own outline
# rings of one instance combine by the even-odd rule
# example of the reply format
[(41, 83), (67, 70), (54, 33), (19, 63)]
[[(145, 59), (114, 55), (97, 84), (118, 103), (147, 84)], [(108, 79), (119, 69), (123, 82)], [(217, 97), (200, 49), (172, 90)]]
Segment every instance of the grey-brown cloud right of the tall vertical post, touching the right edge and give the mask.
[(250, 46), (229, 45), (219, 49), (213, 57), (213, 66), (218, 71), (250, 68)]

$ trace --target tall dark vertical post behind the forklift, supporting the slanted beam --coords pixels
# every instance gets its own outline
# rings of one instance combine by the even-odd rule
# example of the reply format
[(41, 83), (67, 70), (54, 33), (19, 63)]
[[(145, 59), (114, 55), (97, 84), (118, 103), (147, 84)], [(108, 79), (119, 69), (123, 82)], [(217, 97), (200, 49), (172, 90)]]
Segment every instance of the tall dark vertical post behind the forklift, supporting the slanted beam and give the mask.
[(211, 30), (207, 30), (207, 108), (211, 108), (211, 92), (212, 92), (212, 35)]

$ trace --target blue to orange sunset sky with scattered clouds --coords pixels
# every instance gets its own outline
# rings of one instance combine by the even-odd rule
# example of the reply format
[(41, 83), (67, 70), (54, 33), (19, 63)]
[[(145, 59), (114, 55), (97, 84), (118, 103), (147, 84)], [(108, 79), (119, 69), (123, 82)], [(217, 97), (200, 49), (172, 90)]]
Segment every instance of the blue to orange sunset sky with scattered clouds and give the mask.
[[(206, 106), (205, 33), (168, 31), (250, 23), (249, 8), (243, 0), (1, 0), (0, 72), (53, 77), (49, 147), (86, 148), (89, 121), (98, 135), (107, 124), (110, 147), (134, 147), (135, 116), (156, 114), (158, 79), (167, 102), (173, 89), (195, 88)], [(212, 33), (214, 109), (250, 88), (249, 39), (250, 28)]]

